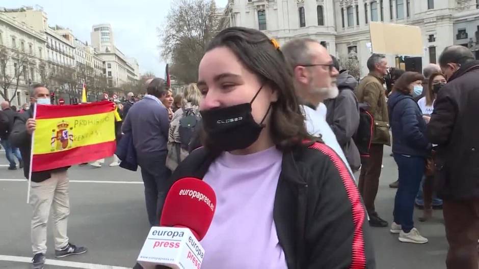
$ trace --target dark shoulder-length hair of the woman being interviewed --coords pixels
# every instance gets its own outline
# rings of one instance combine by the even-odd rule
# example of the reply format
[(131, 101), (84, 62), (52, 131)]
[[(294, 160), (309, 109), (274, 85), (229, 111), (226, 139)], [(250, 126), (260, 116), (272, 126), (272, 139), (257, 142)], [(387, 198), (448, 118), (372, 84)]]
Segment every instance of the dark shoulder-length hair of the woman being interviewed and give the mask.
[[(262, 32), (244, 27), (230, 27), (211, 40), (206, 52), (218, 47), (229, 48), (243, 65), (256, 74), (263, 84), (278, 93), (271, 108), (271, 136), (281, 150), (310, 139), (304, 125), (292, 74), (281, 51)], [(208, 139), (204, 140), (208, 146)], [(213, 141), (211, 141), (213, 142)]]

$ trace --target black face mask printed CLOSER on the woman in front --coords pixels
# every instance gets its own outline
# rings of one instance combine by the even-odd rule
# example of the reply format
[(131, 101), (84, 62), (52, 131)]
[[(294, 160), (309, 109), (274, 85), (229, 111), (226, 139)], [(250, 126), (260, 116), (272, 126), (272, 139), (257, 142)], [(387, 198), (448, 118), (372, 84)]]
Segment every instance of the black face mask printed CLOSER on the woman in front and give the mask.
[(211, 150), (217, 152), (242, 150), (258, 139), (264, 127), (262, 123), (271, 108), (270, 104), (260, 124), (254, 121), (251, 104), (262, 87), (259, 88), (250, 103), (200, 111), (203, 129), (207, 134), (207, 144)]

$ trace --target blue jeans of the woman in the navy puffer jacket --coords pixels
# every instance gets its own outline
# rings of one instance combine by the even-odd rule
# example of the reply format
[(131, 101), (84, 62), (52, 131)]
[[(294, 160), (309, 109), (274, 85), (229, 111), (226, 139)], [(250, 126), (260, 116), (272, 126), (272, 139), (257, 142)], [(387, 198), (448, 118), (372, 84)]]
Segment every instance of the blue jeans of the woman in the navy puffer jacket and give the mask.
[(399, 171), (399, 187), (394, 199), (394, 222), (402, 225), (404, 232), (409, 232), (414, 227), (414, 199), (424, 174), (425, 158), (394, 154), (394, 160)]

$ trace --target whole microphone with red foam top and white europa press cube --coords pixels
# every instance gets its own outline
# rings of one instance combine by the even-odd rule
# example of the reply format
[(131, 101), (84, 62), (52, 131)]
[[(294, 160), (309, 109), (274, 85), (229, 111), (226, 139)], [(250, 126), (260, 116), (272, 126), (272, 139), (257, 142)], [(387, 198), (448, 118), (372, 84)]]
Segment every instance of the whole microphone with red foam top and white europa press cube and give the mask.
[(213, 189), (198, 178), (173, 184), (163, 205), (160, 227), (151, 227), (138, 262), (144, 268), (164, 265), (200, 269), (204, 249), (198, 241), (208, 231), (216, 210)]

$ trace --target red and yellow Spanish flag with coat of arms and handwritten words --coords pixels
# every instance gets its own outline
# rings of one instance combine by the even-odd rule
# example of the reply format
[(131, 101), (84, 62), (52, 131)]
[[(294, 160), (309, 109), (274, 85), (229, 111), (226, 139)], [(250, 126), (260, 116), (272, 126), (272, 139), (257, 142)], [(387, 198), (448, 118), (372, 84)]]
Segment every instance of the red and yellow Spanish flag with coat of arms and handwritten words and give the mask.
[(115, 106), (103, 101), (79, 105), (37, 105), (32, 171), (86, 163), (115, 153)]

